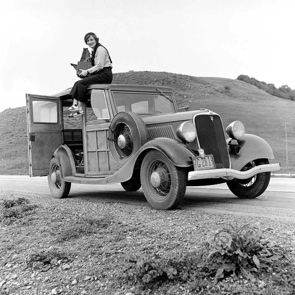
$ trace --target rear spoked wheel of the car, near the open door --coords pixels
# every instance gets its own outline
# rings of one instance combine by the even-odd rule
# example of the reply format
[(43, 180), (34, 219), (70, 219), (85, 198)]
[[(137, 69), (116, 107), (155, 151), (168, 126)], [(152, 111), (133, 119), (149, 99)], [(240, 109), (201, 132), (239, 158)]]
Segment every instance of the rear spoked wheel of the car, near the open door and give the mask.
[(62, 199), (68, 196), (72, 183), (61, 179), (60, 167), (56, 158), (52, 158), (50, 161), (47, 181), (50, 192), (54, 198)]

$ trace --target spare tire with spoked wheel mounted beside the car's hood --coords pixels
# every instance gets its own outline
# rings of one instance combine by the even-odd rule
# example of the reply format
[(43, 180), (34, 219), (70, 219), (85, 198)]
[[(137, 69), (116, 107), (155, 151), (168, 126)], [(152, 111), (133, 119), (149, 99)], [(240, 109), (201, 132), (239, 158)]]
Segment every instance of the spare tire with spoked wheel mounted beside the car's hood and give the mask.
[(109, 127), (109, 149), (122, 167), (147, 142), (148, 130), (142, 119), (133, 112), (117, 113)]

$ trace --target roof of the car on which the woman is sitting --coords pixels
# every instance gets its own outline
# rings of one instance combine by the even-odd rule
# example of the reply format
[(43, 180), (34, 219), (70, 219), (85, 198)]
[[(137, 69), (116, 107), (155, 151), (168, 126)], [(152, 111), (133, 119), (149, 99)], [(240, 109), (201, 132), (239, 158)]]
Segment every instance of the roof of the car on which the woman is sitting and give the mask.
[[(88, 90), (93, 89), (109, 89), (109, 90), (118, 90), (118, 91), (153, 91), (160, 89), (165, 92), (172, 92), (171, 87), (165, 86), (153, 86), (153, 85), (135, 85), (135, 84), (90, 84)], [(64, 91), (53, 94), (52, 96), (68, 96), (72, 88), (68, 88)]]

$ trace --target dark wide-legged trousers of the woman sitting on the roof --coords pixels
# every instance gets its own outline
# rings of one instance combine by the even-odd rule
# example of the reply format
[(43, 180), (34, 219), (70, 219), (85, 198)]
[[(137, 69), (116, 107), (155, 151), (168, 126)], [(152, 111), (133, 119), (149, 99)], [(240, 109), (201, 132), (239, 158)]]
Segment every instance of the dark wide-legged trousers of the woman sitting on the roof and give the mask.
[(112, 73), (112, 68), (107, 67), (103, 68), (97, 73), (93, 73), (91, 76), (88, 76), (86, 78), (83, 78), (77, 82), (75, 82), (70, 95), (74, 98), (77, 99), (78, 101), (86, 101), (86, 91), (88, 88), (89, 84), (109, 84), (112, 83), (113, 81), (113, 73)]

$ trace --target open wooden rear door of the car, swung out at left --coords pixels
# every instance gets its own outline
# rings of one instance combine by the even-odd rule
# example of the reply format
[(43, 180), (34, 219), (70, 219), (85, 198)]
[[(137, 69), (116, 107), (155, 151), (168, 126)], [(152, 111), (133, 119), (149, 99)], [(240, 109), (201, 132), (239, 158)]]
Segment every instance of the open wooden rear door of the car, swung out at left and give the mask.
[(49, 174), (55, 150), (63, 143), (59, 97), (26, 94), (30, 177)]

